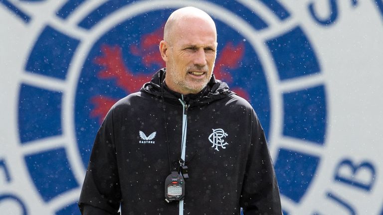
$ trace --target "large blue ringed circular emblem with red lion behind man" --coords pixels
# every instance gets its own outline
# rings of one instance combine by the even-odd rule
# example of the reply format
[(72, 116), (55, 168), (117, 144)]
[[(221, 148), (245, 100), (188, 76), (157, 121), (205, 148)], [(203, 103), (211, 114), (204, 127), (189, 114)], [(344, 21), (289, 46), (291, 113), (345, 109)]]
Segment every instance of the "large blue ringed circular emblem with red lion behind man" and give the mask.
[[(70, 20), (86, 3), (67, 1), (56, 15)], [(105, 114), (165, 66), (158, 44), (166, 19), (175, 9), (193, 5), (216, 22), (214, 74), (257, 112), (270, 142), (284, 213), (292, 213), (320, 162), (318, 148), (326, 140), (326, 90), (313, 46), (299, 23), (292, 23), (291, 14), (276, 0), (256, 4), (267, 8), (274, 22), (258, 15), (256, 5), (239, 1), (156, 5), (110, 0), (77, 20), (73, 33), (47, 24), (25, 65), (27, 73), (42, 81), (22, 83), (18, 103), (20, 143), (36, 146), (24, 159), (42, 200), (51, 204), (79, 194)], [(55, 210), (57, 215), (78, 214), (76, 201)]]

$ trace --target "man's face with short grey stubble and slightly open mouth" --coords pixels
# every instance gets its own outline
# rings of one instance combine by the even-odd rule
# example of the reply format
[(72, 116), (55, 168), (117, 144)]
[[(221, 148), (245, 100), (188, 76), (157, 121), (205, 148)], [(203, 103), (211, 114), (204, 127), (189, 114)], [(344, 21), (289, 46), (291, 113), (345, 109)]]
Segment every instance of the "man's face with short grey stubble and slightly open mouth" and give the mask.
[(166, 84), (178, 93), (197, 94), (208, 83), (216, 56), (216, 32), (201, 19), (175, 26), (168, 44)]

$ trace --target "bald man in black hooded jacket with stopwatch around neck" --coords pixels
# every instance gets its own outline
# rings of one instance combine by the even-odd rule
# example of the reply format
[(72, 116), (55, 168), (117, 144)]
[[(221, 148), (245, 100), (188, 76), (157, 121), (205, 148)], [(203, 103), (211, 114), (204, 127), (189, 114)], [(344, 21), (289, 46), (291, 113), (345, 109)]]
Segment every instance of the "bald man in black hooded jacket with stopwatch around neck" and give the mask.
[(216, 35), (202, 10), (171, 14), (160, 43), (166, 69), (117, 102), (97, 133), (83, 215), (115, 215), (120, 205), (123, 215), (281, 214), (259, 120), (212, 75)]

